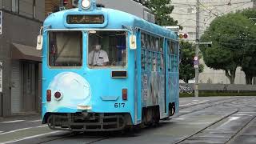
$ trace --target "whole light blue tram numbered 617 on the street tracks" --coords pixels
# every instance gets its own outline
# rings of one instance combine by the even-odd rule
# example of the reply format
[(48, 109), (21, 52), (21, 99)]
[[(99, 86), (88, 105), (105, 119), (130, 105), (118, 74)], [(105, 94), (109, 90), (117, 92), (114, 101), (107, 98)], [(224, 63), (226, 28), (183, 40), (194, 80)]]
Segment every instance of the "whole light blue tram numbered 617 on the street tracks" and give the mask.
[(46, 18), (37, 48), (50, 129), (122, 130), (178, 113), (178, 38), (162, 26), (80, 0)]

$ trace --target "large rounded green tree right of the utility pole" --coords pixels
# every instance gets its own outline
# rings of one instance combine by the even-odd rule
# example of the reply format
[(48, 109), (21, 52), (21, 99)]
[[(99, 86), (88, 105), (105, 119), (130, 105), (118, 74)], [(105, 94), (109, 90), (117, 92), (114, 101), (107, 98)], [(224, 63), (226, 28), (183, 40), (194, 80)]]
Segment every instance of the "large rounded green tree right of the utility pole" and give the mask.
[(235, 71), (244, 63), (248, 43), (255, 37), (254, 31), (252, 23), (243, 14), (215, 18), (200, 39), (201, 42), (213, 42), (211, 48), (200, 48), (206, 66), (225, 70), (226, 77), (234, 84)]

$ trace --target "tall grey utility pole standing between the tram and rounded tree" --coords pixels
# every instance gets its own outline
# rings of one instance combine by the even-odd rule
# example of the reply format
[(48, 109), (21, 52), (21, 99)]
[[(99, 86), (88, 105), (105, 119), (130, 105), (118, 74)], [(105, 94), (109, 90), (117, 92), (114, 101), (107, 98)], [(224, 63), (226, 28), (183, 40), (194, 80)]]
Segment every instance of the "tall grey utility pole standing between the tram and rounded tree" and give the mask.
[[(198, 58), (199, 60), (199, 0), (197, 0), (197, 12), (196, 12), (196, 36), (195, 36), (195, 42), (196, 42), (196, 47), (195, 47), (195, 57)], [(198, 97), (198, 76), (199, 76), (199, 62), (198, 66), (195, 68), (195, 82), (194, 82), (194, 97)]]

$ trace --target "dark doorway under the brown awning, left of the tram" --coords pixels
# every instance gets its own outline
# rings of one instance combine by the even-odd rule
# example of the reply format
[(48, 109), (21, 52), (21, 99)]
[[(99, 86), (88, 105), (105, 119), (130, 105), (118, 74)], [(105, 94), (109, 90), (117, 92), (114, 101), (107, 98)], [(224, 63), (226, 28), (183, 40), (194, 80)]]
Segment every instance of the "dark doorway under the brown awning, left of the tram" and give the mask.
[(22, 67), (22, 110), (31, 112), (37, 110), (38, 64), (34, 62), (24, 62)]

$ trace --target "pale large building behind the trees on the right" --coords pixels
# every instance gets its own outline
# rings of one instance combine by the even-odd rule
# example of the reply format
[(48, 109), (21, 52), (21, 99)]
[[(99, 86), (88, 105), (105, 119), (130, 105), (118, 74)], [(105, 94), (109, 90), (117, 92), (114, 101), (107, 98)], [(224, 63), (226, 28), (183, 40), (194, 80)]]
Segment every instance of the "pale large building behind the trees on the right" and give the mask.
[[(180, 33), (189, 34), (186, 40), (195, 42), (197, 0), (172, 0), (171, 2), (174, 6), (171, 17), (178, 20), (178, 24), (183, 26), (183, 30)], [(253, 1), (248, 0), (200, 0), (199, 3), (199, 37), (217, 16), (252, 8), (255, 4)], [(203, 60), (201, 60), (201, 63), (204, 64)], [(226, 78), (224, 70), (213, 70), (206, 65), (204, 71), (199, 74), (199, 82), (230, 83), (228, 78)], [(236, 70), (235, 84), (246, 84), (245, 74), (239, 67)]]

